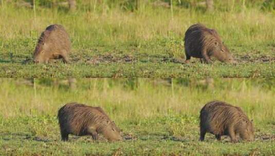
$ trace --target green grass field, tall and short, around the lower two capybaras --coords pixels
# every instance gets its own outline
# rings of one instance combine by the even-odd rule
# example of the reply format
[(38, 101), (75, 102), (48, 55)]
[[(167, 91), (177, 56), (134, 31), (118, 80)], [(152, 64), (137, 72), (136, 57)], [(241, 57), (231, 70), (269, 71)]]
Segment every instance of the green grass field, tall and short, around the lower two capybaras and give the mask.
[[(273, 79), (0, 79), (0, 155), (273, 155)], [(212, 86), (212, 87), (211, 87)], [(207, 134), (199, 142), (198, 115), (211, 100), (240, 106), (255, 125), (255, 141), (233, 144)], [(69, 136), (60, 141), (58, 109), (79, 102), (101, 106), (123, 130), (123, 141)]]

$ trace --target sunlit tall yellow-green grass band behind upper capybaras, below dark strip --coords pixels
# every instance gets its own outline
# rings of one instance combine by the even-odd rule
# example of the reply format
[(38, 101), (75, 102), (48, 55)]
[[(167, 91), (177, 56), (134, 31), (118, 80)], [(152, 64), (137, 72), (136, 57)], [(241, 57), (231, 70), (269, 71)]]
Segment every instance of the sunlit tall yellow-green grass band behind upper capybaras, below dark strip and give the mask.
[(240, 12), (216, 10), (213, 13), (176, 8), (173, 20), (170, 9), (150, 5), (143, 6), (138, 12), (119, 8), (104, 12), (78, 10), (76, 13), (41, 7), (36, 9), (34, 18), (32, 9), (8, 4), (1, 6), (0, 37), (6, 40), (37, 38), (48, 25), (62, 24), (74, 47), (131, 42), (144, 44), (144, 41), (158, 38), (183, 38), (187, 28), (199, 22), (216, 29), (230, 45), (259, 45), (271, 43), (275, 38), (274, 15), (256, 8)]

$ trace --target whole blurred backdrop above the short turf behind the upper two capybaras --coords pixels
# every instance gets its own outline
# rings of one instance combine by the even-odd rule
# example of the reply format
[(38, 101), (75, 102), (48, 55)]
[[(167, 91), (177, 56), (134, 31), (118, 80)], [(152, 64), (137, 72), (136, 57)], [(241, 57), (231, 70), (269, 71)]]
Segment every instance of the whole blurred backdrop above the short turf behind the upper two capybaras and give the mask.
[(58, 23), (76, 49), (154, 49), (158, 44), (178, 49), (175, 45), (181, 44), (186, 29), (197, 22), (218, 30), (227, 45), (259, 46), (272, 44), (274, 10), (273, 0), (2, 0), (0, 39), (7, 41), (0, 47), (12, 49), (9, 46), (20, 43), (18, 49), (34, 48), (41, 32)]

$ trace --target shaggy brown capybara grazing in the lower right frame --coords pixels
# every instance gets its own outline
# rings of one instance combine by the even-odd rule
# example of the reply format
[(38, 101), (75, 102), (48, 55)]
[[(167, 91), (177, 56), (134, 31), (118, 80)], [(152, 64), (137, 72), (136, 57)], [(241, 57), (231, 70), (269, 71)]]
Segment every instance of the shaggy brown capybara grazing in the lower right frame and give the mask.
[(221, 101), (211, 101), (200, 110), (200, 141), (204, 141), (206, 132), (221, 140), (222, 135), (230, 136), (237, 142), (236, 136), (245, 141), (254, 141), (254, 126), (240, 107)]

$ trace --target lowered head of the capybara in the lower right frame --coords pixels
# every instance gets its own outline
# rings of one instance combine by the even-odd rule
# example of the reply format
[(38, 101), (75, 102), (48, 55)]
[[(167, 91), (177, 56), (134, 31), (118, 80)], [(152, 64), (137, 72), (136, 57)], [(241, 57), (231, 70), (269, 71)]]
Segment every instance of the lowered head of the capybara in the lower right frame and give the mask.
[(252, 121), (241, 121), (236, 127), (236, 132), (238, 132), (240, 137), (245, 141), (254, 141), (255, 139)]

